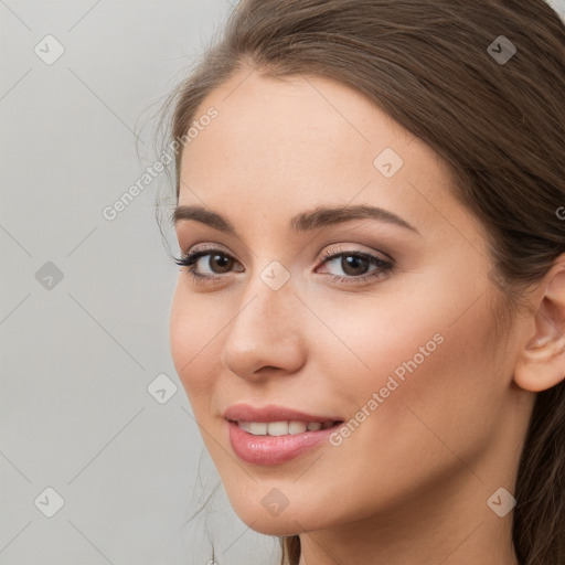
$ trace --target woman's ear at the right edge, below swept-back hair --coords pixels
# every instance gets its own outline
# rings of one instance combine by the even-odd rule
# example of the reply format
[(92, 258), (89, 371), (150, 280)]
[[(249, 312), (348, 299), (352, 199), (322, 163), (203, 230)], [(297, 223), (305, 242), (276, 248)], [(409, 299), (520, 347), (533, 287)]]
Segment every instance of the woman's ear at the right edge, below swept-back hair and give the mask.
[(565, 379), (565, 254), (534, 295), (531, 322), (535, 330), (519, 351), (514, 381), (521, 388), (540, 392)]

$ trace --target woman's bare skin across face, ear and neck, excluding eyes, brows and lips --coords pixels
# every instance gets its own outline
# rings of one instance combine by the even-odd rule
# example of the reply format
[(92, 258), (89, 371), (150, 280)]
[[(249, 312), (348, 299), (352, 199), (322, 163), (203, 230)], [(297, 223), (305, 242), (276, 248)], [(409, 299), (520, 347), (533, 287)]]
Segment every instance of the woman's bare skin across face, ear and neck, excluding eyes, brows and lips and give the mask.
[[(181, 269), (170, 338), (235, 512), (257, 532), (300, 534), (300, 565), (518, 564), (513, 512), (499, 518), (487, 501), (501, 487), (513, 492), (534, 392), (565, 374), (555, 352), (563, 262), (507, 333), (486, 233), (428, 146), (321, 77), (242, 70), (196, 117), (211, 106), (217, 118), (183, 151), (179, 204), (222, 214), (238, 237), (192, 220), (175, 231), (182, 252), (215, 244), (236, 260), (225, 273), (200, 259), (214, 284)], [(384, 148), (404, 161), (392, 178), (373, 166)], [(354, 204), (388, 210), (419, 234), (375, 220), (289, 232), (295, 214)], [(359, 285), (332, 281), (355, 274), (339, 258), (324, 264), (327, 249), (391, 257), (396, 267)], [(290, 276), (278, 290), (260, 278), (274, 260)], [(347, 422), (437, 333), (443, 343), (339, 447), (274, 467), (233, 451), (222, 417), (232, 404)], [(544, 337), (553, 349), (534, 347)], [(276, 516), (262, 504), (273, 488), (289, 502)]]

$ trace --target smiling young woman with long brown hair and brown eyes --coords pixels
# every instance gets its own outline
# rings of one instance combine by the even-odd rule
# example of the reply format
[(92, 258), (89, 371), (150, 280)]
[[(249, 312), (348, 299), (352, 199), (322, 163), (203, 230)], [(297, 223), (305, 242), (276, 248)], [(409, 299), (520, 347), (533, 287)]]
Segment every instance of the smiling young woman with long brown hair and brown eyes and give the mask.
[(171, 95), (172, 356), (284, 564), (565, 564), (564, 95), (542, 0), (244, 0)]

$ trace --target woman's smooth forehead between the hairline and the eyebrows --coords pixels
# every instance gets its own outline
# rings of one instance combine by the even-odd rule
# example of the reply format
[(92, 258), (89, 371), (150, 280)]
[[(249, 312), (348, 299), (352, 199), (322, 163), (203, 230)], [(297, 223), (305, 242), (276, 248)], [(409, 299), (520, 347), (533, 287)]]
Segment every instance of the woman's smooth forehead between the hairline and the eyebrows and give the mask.
[[(183, 151), (179, 204), (226, 214), (245, 205), (247, 217), (260, 212), (266, 225), (267, 216), (320, 204), (377, 205), (428, 227), (445, 223), (435, 201), (460, 221), (469, 215), (449, 196), (451, 178), (439, 156), (344, 85), (242, 71), (193, 119), (211, 107), (217, 117)], [(391, 177), (375, 164), (382, 154), (397, 168)]]

